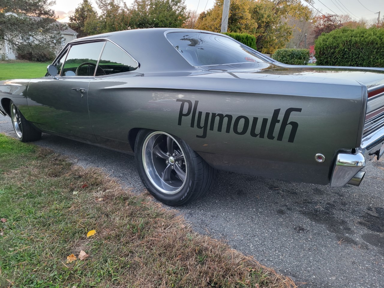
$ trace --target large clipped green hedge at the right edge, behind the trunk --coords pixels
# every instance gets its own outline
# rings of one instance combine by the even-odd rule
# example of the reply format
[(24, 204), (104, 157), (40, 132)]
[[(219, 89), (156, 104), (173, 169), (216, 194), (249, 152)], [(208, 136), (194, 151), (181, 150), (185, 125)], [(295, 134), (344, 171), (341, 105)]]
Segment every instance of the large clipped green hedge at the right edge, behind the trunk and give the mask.
[(315, 41), (317, 65), (384, 67), (384, 29), (341, 28)]

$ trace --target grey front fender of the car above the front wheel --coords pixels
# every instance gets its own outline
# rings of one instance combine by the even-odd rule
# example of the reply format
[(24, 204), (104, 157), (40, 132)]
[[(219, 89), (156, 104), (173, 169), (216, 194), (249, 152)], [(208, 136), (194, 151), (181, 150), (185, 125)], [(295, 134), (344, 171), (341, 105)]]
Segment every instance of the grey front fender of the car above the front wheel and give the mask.
[(12, 100), (23, 116), (30, 119), (30, 112), (26, 100), (29, 79), (13, 79), (0, 81), (0, 104), (3, 111), (9, 113), (9, 100)]

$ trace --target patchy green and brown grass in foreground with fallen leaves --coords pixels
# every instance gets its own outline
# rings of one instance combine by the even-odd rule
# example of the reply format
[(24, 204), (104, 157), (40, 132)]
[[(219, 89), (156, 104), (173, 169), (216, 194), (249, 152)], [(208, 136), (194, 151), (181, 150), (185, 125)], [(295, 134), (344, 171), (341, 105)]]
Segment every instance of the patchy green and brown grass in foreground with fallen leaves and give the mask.
[(0, 287), (296, 287), (147, 197), (0, 134)]

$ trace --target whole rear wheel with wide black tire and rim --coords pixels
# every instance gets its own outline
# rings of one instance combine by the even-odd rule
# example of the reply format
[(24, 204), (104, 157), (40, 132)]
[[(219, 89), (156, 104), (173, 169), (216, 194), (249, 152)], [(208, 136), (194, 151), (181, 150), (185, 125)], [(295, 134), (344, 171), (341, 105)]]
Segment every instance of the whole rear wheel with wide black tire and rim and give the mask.
[[(158, 152), (153, 152), (157, 150), (155, 149), (157, 148), (155, 146), (159, 146), (162, 147), (162, 153), (167, 153), (169, 151), (167, 148), (169, 147), (168, 140), (170, 138), (174, 140), (172, 152), (176, 152), (174, 160), (175, 162), (172, 162), (172, 159), (167, 159), (166, 157), (168, 156), (159, 157), (156, 154)], [(152, 139), (155, 139), (154, 143), (151, 142)], [(180, 154), (177, 153), (177, 147), (180, 148)], [(152, 156), (150, 156), (151, 153)], [(177, 157), (179, 157), (181, 154), (183, 154), (183, 159), (181, 161), (177, 161)], [(173, 158), (172, 155), (169, 157)], [(217, 177), (217, 170), (210, 167), (207, 162), (205, 162), (199, 156), (199, 154), (197, 154), (192, 150), (191, 147), (188, 146), (187, 143), (174, 135), (161, 131), (153, 131), (147, 129), (142, 129), (139, 131), (135, 142), (135, 160), (137, 170), (147, 190), (157, 200), (170, 206), (187, 204), (203, 197), (212, 188)], [(172, 165), (170, 162), (172, 162)], [(162, 181), (166, 170), (164, 170), (163, 173), (160, 172), (163, 169), (167, 169), (169, 165), (171, 165), (172, 168), (170, 170), (171, 172), (168, 173), (170, 175), (170, 181)], [(182, 177), (179, 177), (179, 174), (177, 174), (177, 171), (179, 170), (176, 168), (179, 167), (176, 167), (176, 165), (182, 169), (182, 172), (186, 172), (184, 183), (182, 182)], [(156, 170), (159, 170), (159, 172)], [(160, 181), (156, 182), (156, 180)], [(174, 189), (174, 191), (161, 190), (165, 186), (168, 187), (168, 184), (175, 186), (170, 186), (169, 189)]]

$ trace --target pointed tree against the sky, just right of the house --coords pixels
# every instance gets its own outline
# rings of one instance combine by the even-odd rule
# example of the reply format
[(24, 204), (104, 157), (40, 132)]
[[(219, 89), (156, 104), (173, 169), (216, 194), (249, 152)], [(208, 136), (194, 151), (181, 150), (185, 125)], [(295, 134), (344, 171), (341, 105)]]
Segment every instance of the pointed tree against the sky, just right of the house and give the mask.
[(79, 6), (75, 9), (72, 16), (70, 16), (69, 26), (74, 31), (79, 33), (78, 37), (88, 36), (88, 33), (84, 31), (84, 23), (90, 17), (97, 17), (97, 12), (92, 7), (88, 0), (83, 0)]

